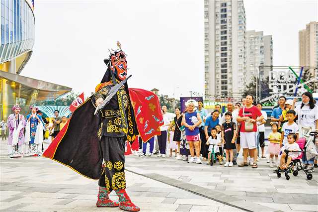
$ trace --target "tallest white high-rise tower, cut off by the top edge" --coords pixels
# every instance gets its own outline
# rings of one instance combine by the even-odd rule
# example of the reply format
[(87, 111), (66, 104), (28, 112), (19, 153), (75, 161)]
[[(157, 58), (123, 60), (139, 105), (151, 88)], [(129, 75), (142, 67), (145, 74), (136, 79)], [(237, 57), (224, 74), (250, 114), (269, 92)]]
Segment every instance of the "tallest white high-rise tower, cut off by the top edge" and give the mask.
[(205, 98), (240, 97), (245, 88), (243, 0), (204, 0)]

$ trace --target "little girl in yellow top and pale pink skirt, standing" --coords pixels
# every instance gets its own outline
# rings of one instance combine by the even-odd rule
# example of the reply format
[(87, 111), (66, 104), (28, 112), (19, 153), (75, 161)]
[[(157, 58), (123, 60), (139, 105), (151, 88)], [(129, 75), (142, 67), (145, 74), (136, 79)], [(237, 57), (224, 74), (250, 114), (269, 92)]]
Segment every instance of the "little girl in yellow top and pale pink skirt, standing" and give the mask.
[[(268, 140), (270, 141), (268, 145), (268, 152), (269, 152), (269, 167), (279, 166), (278, 164), (278, 154), (280, 152), (280, 138), (281, 133), (279, 133), (278, 130), (278, 123), (277, 122), (271, 122), (272, 125), (272, 132), (269, 133)], [(275, 155), (275, 163), (274, 163), (274, 155)]]

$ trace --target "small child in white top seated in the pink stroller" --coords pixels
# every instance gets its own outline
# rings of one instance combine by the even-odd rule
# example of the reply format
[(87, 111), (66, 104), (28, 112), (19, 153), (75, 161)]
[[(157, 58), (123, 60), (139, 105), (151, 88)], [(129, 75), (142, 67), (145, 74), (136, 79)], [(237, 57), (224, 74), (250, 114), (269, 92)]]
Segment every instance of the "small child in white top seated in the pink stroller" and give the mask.
[[(298, 143), (296, 143), (296, 139), (297, 139), (297, 135), (295, 133), (289, 133), (287, 135), (287, 141), (288, 143), (285, 144), (282, 147), (282, 155), (280, 158), (280, 167), (281, 169), (286, 169), (289, 164), (292, 162), (292, 160), (297, 159), (302, 153), (300, 151), (302, 151), (299, 148)], [(288, 157), (287, 157), (287, 161), (286, 161), (286, 152), (285, 150), (288, 150), (290, 152), (288, 152)], [(293, 151), (298, 151), (298, 152), (293, 152)]]

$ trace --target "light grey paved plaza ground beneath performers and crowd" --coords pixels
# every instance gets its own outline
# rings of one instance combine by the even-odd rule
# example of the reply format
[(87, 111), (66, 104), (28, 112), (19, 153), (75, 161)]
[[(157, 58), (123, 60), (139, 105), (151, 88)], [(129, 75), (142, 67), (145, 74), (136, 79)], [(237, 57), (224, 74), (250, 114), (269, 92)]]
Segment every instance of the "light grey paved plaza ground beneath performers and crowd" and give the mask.
[[(97, 181), (44, 157), (8, 159), (0, 142), (1, 211), (120, 211), (95, 207)], [(317, 169), (312, 180), (300, 173), (287, 181), (266, 159), (255, 170), (127, 156), (126, 170), (128, 194), (141, 211), (318, 211)]]

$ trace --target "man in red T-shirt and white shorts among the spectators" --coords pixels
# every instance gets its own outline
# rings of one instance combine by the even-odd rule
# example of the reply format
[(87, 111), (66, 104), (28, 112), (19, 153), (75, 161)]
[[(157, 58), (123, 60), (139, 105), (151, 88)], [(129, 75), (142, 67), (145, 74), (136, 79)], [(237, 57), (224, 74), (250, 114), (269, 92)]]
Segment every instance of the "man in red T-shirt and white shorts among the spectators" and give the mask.
[[(243, 163), (240, 163), (239, 166), (248, 166), (247, 153), (249, 151), (250, 162), (253, 163), (252, 168), (257, 168), (256, 122), (263, 120), (263, 115), (256, 106), (252, 105), (253, 100), (254, 98), (252, 95), (246, 96), (245, 106), (240, 108), (237, 118), (238, 122), (241, 122), (240, 146), (243, 149)], [(253, 124), (253, 128), (251, 130), (245, 130), (245, 122), (251, 122)]]

